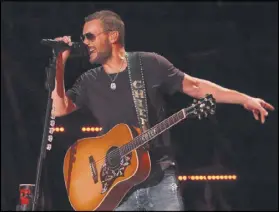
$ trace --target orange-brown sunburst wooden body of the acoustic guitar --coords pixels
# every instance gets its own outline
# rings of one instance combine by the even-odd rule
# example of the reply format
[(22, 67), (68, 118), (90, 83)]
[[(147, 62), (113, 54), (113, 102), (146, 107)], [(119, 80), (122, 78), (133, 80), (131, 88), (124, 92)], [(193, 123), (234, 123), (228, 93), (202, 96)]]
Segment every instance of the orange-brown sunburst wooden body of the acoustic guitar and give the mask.
[[(80, 139), (67, 150), (63, 173), (74, 210), (112, 211), (132, 187), (146, 180), (151, 170), (148, 151), (139, 147), (120, 158), (114, 148), (132, 139), (128, 125), (118, 124), (107, 134)], [(109, 152), (115, 157), (106, 157)]]

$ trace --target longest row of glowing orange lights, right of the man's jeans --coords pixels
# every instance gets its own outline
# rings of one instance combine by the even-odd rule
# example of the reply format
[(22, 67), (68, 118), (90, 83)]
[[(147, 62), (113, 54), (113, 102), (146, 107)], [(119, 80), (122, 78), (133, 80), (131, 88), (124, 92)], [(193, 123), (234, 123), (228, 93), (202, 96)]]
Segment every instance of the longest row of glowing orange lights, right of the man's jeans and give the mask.
[(236, 180), (236, 175), (180, 175), (178, 176), (179, 181), (185, 181), (185, 180), (191, 180), (191, 181), (205, 181), (205, 180), (211, 180), (211, 181), (232, 181)]

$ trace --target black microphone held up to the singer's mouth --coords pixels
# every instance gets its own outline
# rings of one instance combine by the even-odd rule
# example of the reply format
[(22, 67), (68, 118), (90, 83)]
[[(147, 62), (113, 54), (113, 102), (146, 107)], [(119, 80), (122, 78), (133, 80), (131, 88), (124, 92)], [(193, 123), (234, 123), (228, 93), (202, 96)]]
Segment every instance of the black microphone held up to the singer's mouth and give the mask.
[[(53, 39), (42, 39), (41, 44), (52, 47), (57, 51), (64, 51), (66, 49), (71, 50), (71, 55), (74, 54), (75, 56), (87, 56), (88, 51), (85, 45), (81, 42), (72, 42), (72, 46), (69, 46), (67, 43), (63, 41), (56, 41)], [(73, 55), (72, 55), (73, 56)]]

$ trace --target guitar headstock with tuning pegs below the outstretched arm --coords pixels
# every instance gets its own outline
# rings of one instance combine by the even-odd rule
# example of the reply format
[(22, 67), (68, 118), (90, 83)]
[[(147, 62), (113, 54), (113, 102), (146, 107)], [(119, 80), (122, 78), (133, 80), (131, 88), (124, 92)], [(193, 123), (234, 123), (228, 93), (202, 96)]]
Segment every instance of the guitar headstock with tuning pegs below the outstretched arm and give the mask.
[(215, 114), (216, 111), (216, 101), (211, 94), (207, 94), (202, 99), (195, 99), (192, 105), (187, 110), (187, 115), (198, 117), (202, 119), (209, 115)]

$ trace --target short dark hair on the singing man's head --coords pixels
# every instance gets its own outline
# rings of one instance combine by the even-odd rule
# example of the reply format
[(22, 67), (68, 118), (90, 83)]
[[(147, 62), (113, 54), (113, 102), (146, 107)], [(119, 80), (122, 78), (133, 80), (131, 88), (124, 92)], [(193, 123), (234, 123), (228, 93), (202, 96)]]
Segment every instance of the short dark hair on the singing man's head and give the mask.
[(125, 45), (125, 26), (124, 22), (121, 20), (120, 16), (115, 12), (110, 10), (101, 10), (93, 14), (88, 15), (84, 21), (89, 22), (92, 20), (100, 20), (103, 24), (104, 31), (118, 31), (119, 40), (118, 42), (124, 46)]

